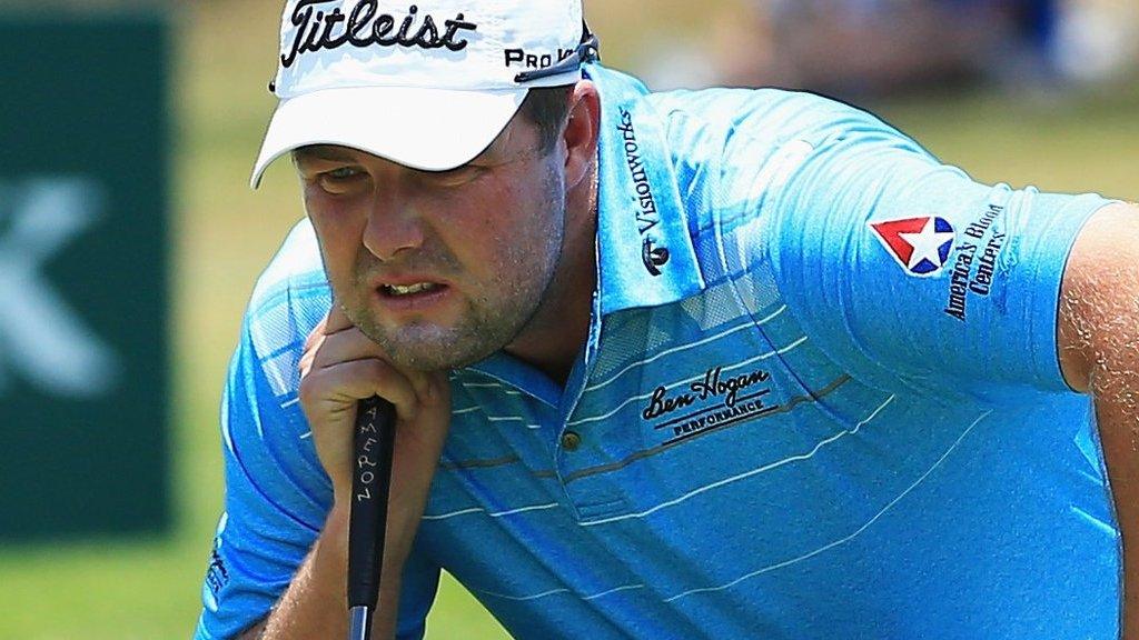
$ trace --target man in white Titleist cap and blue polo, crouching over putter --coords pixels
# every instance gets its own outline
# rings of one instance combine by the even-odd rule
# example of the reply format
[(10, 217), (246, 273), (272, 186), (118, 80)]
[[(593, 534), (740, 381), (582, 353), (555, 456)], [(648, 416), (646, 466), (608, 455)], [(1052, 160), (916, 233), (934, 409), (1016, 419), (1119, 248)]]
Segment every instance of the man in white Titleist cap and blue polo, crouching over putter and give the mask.
[(309, 216), (230, 371), (197, 638), (344, 634), (372, 394), (377, 637), (441, 567), (521, 638), (1139, 629), (1136, 210), (814, 96), (652, 95), (581, 25), (288, 2), (255, 171), (290, 153)]

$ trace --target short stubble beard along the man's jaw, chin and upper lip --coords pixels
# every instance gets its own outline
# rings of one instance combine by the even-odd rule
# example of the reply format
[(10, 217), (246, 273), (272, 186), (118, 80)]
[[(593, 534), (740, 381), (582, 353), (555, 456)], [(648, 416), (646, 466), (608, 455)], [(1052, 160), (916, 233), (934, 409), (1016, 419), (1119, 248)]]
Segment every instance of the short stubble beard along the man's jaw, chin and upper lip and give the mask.
[[(565, 198), (559, 197), (556, 180), (546, 180), (547, 202), (539, 215), (554, 219), (549, 229), (533, 237), (495, 237), (503, 247), (500, 278), (482, 282), (466, 293), (465, 309), (454, 325), (444, 327), (429, 320), (415, 320), (400, 327), (384, 326), (368, 309), (371, 292), (368, 282), (377, 268), (367, 249), (357, 256), (353, 281), (354, 304), (344, 312), (357, 328), (378, 344), (393, 364), (418, 371), (440, 371), (467, 367), (484, 360), (515, 340), (532, 323), (546, 300), (562, 264), (565, 240)], [(417, 268), (431, 273), (462, 273), (459, 261), (445, 251), (416, 259)]]

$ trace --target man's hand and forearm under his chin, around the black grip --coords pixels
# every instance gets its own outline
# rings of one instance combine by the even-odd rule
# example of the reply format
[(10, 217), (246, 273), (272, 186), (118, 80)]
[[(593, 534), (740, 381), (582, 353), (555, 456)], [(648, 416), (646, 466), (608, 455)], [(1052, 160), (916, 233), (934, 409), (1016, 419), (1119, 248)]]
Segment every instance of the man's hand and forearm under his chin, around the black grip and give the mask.
[(379, 395), (395, 405), (395, 453), (375, 638), (391, 638), (400, 577), (423, 516), (451, 418), (446, 371), (400, 370), (334, 303), (301, 358), (301, 405), (321, 465), (333, 481), (333, 509), (312, 551), (262, 625), (243, 638), (301, 640), (347, 634), (347, 520), (352, 500), (357, 403)]

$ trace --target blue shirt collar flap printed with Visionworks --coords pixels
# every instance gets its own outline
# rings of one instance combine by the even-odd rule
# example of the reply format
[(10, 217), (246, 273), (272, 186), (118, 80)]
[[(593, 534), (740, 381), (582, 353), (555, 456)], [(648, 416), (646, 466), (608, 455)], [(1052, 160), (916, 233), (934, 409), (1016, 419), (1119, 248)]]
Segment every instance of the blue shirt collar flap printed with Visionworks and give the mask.
[(704, 289), (663, 123), (639, 81), (585, 67), (601, 96), (597, 262), (600, 313), (678, 302)]

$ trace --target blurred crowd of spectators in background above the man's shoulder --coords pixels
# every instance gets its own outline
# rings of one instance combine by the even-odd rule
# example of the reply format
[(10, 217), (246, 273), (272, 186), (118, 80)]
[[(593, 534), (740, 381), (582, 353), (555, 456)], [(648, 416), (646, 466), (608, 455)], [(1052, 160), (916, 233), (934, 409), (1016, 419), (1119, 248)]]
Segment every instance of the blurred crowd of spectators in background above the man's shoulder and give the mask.
[(1133, 73), (1137, 0), (741, 0), (712, 42), (654, 52), (673, 85), (865, 97), (962, 83), (1054, 89)]

